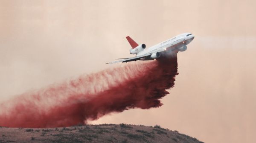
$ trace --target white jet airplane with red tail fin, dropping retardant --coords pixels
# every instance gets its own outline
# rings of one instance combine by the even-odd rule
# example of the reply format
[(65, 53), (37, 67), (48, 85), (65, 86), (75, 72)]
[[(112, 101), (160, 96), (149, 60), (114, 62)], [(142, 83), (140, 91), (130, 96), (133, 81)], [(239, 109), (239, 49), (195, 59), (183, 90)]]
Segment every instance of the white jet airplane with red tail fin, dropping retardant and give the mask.
[(119, 61), (108, 62), (106, 64), (137, 60), (154, 60), (160, 57), (170, 56), (174, 53), (185, 51), (187, 49), (186, 45), (188, 45), (194, 37), (195, 36), (191, 33), (183, 33), (145, 49), (145, 44), (138, 45), (130, 36), (127, 36), (126, 39), (131, 45), (130, 54), (136, 54), (136, 56), (131, 58), (120, 58)]

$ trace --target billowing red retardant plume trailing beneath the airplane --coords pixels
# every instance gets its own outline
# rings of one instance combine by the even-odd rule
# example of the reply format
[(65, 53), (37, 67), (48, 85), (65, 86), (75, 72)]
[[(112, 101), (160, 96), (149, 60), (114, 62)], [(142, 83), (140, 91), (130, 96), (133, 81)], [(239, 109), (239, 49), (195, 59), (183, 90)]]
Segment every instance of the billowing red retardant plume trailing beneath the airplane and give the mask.
[(0, 126), (72, 126), (111, 112), (160, 107), (177, 74), (176, 55), (80, 76), (1, 103)]

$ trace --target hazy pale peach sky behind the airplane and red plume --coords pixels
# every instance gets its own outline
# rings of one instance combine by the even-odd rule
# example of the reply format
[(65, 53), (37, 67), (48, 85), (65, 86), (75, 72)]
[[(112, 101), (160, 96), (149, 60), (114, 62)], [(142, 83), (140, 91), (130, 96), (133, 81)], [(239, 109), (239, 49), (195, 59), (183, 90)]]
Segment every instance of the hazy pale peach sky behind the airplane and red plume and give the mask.
[(0, 100), (90, 74), (129, 57), (125, 36), (150, 47), (177, 34), (175, 87), (156, 109), (90, 123), (177, 130), (206, 143), (253, 143), (256, 133), (255, 0), (0, 0)]

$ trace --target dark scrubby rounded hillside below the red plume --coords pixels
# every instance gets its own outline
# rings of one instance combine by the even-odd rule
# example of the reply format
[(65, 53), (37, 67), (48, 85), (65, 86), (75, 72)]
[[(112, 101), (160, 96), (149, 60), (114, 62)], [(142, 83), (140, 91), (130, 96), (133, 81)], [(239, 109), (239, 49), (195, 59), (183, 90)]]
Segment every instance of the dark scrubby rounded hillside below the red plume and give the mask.
[(0, 128), (0, 143), (203, 143), (160, 126), (126, 124), (63, 128)]

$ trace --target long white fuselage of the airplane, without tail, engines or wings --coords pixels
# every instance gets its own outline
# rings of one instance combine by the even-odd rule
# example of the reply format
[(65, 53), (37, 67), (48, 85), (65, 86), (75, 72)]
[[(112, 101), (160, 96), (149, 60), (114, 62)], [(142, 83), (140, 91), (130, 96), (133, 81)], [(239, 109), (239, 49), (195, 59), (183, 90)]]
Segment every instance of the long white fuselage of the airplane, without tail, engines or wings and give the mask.
[(194, 37), (195, 36), (191, 33), (183, 33), (164, 42), (160, 42), (157, 45), (151, 46), (150, 48), (146, 48), (145, 50), (137, 53), (136, 56), (157, 53), (163, 50), (166, 51), (166, 53), (169, 53), (189, 44), (194, 39)]

